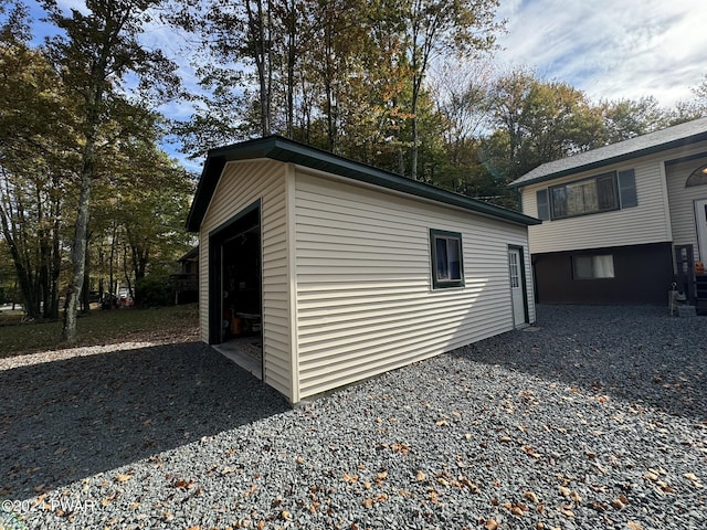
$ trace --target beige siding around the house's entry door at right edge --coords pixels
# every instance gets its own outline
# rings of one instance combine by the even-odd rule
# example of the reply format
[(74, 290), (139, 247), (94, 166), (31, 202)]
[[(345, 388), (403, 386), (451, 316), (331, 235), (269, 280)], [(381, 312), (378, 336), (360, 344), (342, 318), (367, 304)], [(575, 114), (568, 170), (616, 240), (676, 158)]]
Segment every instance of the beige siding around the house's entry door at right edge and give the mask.
[[(695, 169), (705, 163), (707, 163), (707, 155), (705, 155), (705, 158), (666, 167), (673, 243), (676, 245), (693, 245), (696, 259), (699, 254), (699, 247), (697, 245), (697, 227), (695, 224), (695, 200), (707, 200), (707, 186), (685, 188), (685, 182)], [(706, 258), (707, 256), (700, 256), (701, 261)]]

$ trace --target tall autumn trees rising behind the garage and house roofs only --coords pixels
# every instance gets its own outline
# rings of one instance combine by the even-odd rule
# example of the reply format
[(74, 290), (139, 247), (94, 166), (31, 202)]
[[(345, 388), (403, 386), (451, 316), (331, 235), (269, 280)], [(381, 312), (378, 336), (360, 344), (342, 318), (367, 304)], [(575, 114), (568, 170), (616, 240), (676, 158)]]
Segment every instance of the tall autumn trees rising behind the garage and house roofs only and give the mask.
[(539, 163), (704, 114), (704, 93), (674, 108), (650, 95), (592, 102), (529, 67), (494, 66), (497, 7), (191, 0), (170, 21), (189, 32), (203, 92), (176, 130), (197, 159), (275, 132), (513, 208), (505, 184)]

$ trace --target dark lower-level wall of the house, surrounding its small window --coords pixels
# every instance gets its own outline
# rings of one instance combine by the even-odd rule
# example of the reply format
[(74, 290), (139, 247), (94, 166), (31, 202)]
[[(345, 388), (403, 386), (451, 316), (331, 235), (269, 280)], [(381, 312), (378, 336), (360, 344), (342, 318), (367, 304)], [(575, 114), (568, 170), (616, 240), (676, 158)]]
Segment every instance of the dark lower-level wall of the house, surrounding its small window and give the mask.
[[(532, 254), (539, 304), (667, 304), (671, 243)], [(614, 277), (574, 279), (573, 256), (612, 254)]]

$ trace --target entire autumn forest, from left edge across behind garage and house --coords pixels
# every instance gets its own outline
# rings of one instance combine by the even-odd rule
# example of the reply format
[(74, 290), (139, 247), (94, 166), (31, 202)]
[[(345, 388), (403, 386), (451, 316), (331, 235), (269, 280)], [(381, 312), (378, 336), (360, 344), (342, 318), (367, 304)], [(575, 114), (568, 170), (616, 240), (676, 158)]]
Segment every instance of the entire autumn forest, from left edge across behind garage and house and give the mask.
[(63, 315), (68, 342), (91, 290), (139, 300), (194, 243), (169, 141), (202, 161), (278, 134), (515, 208), (507, 183), (540, 163), (707, 115), (707, 77), (666, 108), (497, 66), (497, 0), (39, 3), (43, 40), (0, 0), (0, 303)]

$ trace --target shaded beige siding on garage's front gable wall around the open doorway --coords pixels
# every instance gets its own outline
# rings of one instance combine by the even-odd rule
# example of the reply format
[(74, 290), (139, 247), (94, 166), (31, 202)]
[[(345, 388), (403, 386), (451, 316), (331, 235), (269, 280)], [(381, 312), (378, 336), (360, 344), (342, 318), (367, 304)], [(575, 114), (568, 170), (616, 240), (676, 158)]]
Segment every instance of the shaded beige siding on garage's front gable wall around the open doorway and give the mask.
[(201, 336), (209, 340), (209, 233), (261, 200), (263, 245), (263, 381), (292, 396), (286, 166), (274, 161), (230, 162), (201, 224)]

